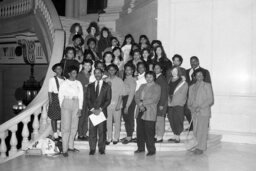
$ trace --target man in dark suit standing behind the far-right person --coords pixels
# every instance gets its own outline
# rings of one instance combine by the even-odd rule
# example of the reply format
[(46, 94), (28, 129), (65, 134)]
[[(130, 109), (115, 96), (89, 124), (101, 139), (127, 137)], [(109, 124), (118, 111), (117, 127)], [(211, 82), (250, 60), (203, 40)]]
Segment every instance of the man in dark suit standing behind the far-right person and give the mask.
[[(207, 69), (204, 69), (204, 68), (200, 67), (198, 57), (192, 56), (190, 58), (190, 65), (191, 65), (191, 68), (186, 70), (186, 81), (187, 81), (189, 86), (196, 83), (196, 78), (195, 78), (194, 73), (199, 68), (204, 72), (204, 75), (205, 75), (204, 81), (211, 84), (210, 72)], [(186, 116), (188, 122), (191, 122), (191, 112), (188, 109), (187, 105), (185, 105), (184, 115)], [(192, 123), (191, 123), (191, 126), (190, 126), (189, 130), (193, 130), (193, 124)]]

